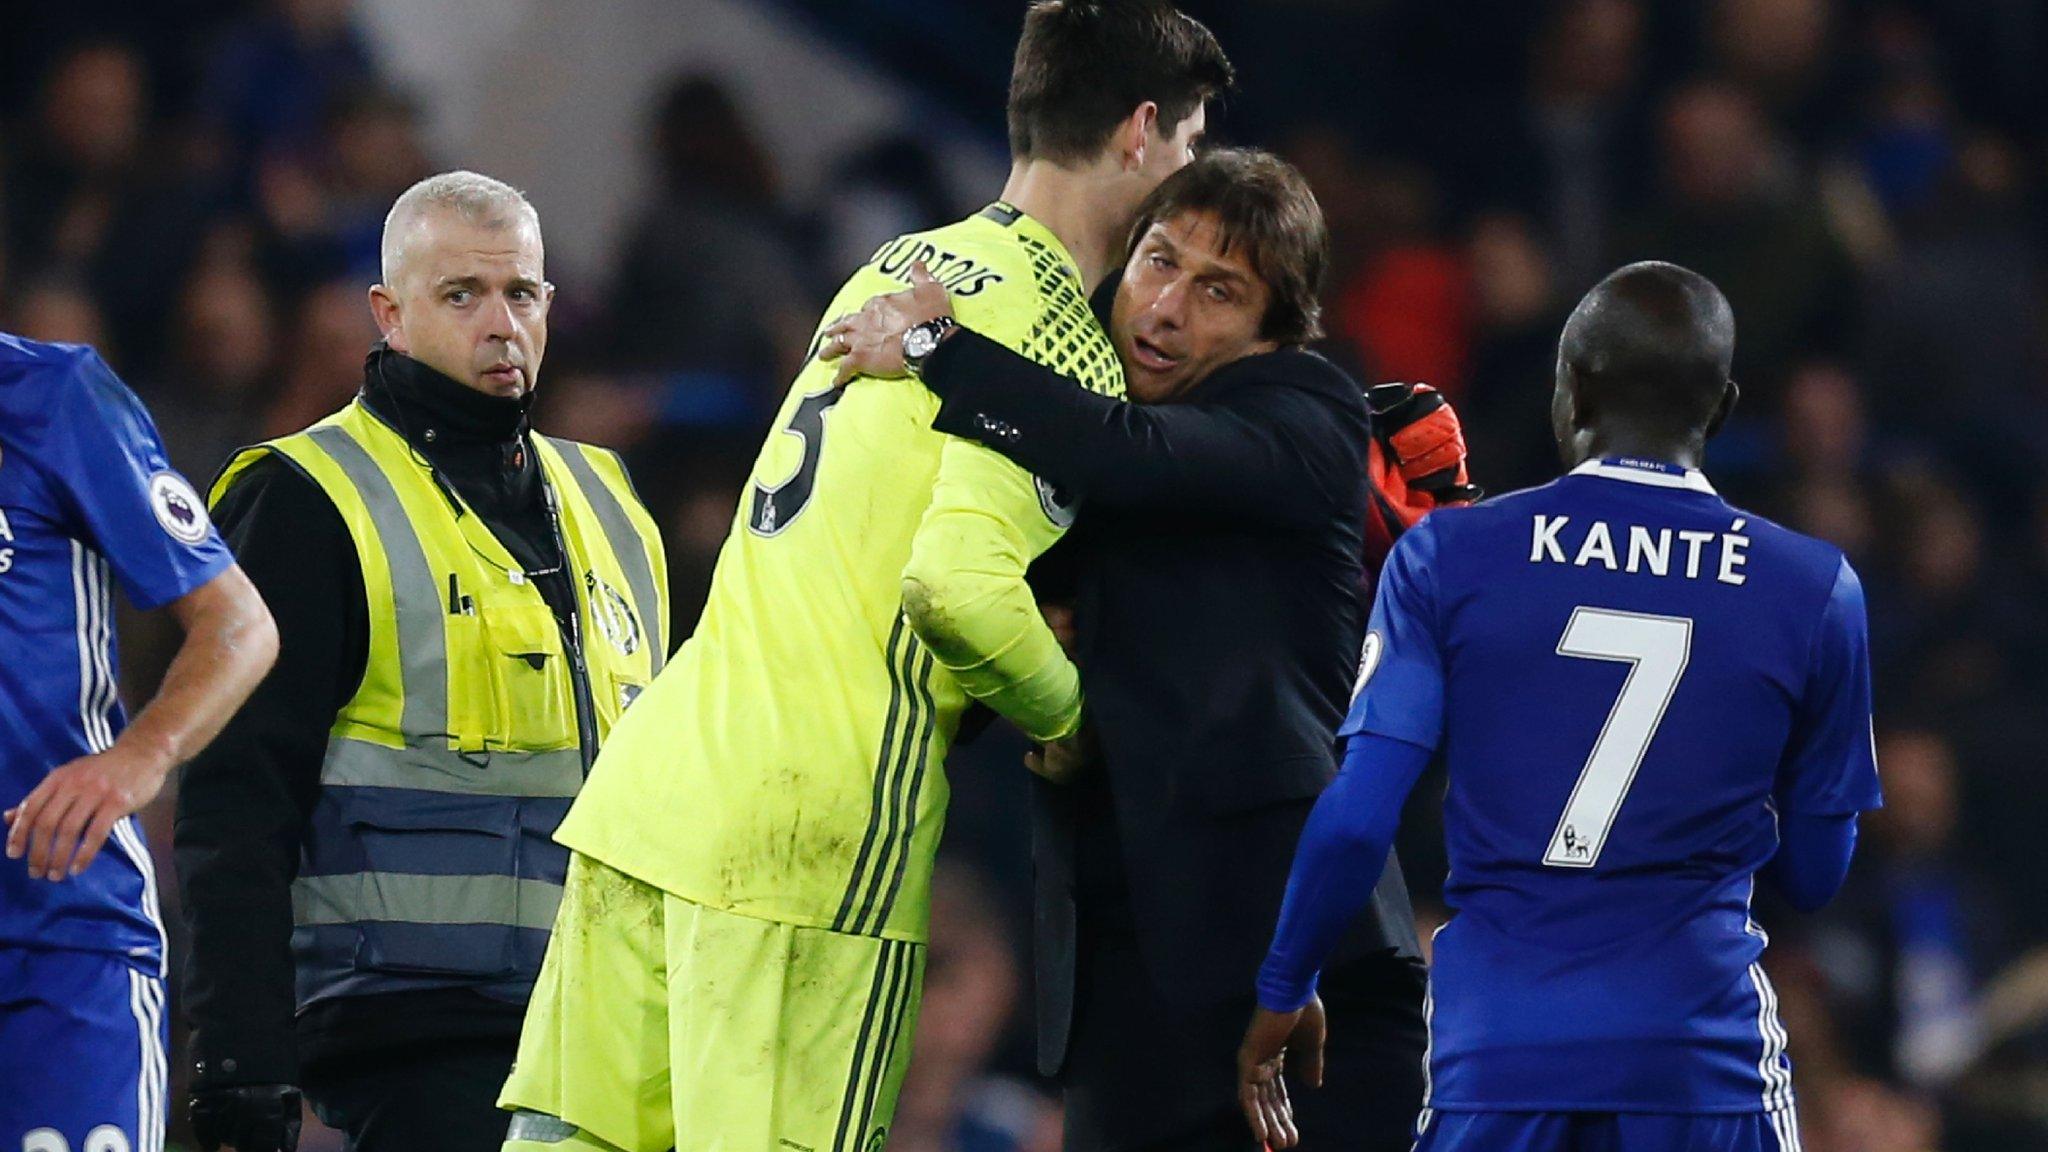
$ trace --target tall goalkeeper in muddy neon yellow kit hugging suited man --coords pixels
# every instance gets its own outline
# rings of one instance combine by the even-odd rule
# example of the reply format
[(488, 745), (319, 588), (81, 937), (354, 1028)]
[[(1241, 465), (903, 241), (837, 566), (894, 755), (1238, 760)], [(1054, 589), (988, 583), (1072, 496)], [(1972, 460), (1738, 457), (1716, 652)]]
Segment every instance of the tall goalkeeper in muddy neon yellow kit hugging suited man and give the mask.
[[(1122, 396), (1087, 307), (1231, 66), (1163, 0), (1049, 0), (979, 213), (885, 244), (827, 320), (924, 262), (963, 324)], [(936, 332), (928, 332), (936, 334)], [(909, 1062), (946, 746), (969, 701), (1055, 742), (1073, 664), (1024, 570), (1057, 492), (930, 428), (918, 381), (807, 361), (696, 633), (614, 728), (502, 1107), (508, 1152), (874, 1152)]]

